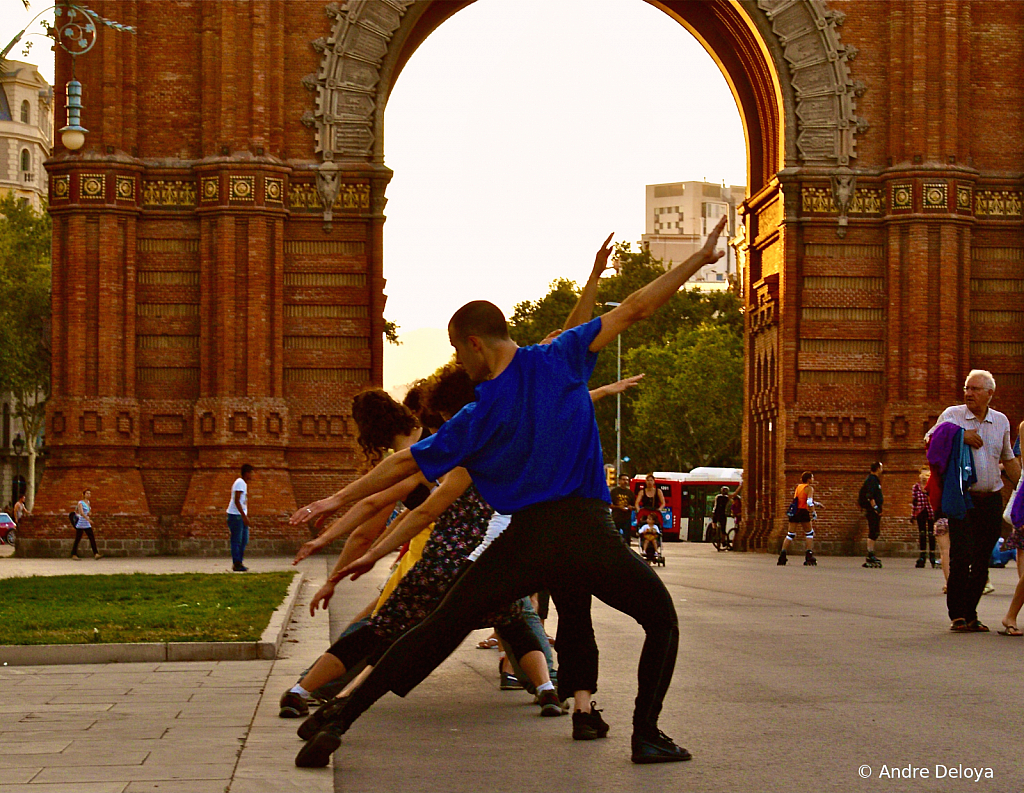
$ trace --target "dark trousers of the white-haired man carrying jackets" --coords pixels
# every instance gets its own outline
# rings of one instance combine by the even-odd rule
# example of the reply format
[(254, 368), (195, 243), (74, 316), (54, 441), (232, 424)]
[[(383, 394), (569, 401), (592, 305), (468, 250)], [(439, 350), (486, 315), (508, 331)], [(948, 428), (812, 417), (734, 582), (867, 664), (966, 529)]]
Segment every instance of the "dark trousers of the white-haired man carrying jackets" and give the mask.
[(964, 519), (949, 518), (949, 619), (978, 619), (978, 601), (988, 581), (988, 559), (1002, 533), (1002, 498), (998, 493), (972, 493), (974, 506)]

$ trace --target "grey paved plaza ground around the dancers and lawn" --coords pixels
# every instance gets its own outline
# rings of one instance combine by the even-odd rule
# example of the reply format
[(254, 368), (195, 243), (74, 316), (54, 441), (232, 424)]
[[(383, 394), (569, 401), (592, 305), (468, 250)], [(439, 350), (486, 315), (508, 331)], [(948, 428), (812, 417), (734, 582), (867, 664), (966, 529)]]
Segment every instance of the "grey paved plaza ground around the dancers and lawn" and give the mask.
[[(864, 570), (859, 558), (835, 557), (780, 569), (774, 556), (689, 544), (666, 555), (658, 574), (681, 642), (662, 726), (691, 762), (629, 762), (642, 632), (596, 604), (607, 740), (575, 743), (568, 718), (539, 718), (525, 694), (500, 692), (497, 653), (467, 641), (406, 700), (388, 696), (370, 711), (331, 768), (295, 768), (297, 723), (279, 719), (276, 705), (328, 642), (328, 621), (306, 609), (327, 572), (312, 558), (276, 661), (0, 669), (0, 793), (1021, 788), (1024, 639), (950, 634), (940, 571), (915, 570), (913, 559)], [(225, 569), (219, 559), (0, 558), (0, 577)], [(381, 575), (339, 588), (336, 631)], [(993, 628), (1015, 579), (1014, 570), (992, 571), (996, 592), (980, 612)], [(880, 779), (908, 766), (916, 778)], [(967, 779), (967, 768), (991, 768), (992, 779)]]

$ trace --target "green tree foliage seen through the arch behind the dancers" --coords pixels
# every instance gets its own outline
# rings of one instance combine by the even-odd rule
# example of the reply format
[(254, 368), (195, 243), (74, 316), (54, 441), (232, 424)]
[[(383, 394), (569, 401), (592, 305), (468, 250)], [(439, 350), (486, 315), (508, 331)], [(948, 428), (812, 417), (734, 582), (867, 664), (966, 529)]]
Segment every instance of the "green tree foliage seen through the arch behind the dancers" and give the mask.
[[(594, 316), (665, 272), (648, 250), (615, 247), (618, 272), (601, 279)], [(560, 328), (581, 292), (557, 279), (544, 297), (515, 306), (512, 338), (534, 344)], [(738, 465), (742, 426), (742, 333), (739, 300), (731, 291), (683, 289), (648, 320), (622, 335), (622, 376), (641, 372), (643, 382), (623, 394), (623, 464), (628, 473)], [(591, 385), (616, 379), (616, 345), (598, 357)], [(595, 406), (604, 459), (614, 464), (615, 400)]]

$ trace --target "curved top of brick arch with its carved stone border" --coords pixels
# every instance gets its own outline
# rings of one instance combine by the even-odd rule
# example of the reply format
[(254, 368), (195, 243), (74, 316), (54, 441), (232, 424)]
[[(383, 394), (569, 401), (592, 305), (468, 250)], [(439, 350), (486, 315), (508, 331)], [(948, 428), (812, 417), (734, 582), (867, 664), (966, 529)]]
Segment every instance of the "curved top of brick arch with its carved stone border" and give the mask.
[[(416, 48), (471, 2), (350, 0), (326, 7), (332, 33), (312, 42), (321, 68), (303, 80), (316, 94), (303, 122), (314, 129), (323, 161), (383, 164), (391, 88)], [(840, 41), (844, 14), (823, 0), (650, 2), (693, 34), (722, 70), (743, 122), (751, 193), (785, 167), (850, 165), (866, 122), (855, 114), (863, 85), (849, 74), (857, 50)]]

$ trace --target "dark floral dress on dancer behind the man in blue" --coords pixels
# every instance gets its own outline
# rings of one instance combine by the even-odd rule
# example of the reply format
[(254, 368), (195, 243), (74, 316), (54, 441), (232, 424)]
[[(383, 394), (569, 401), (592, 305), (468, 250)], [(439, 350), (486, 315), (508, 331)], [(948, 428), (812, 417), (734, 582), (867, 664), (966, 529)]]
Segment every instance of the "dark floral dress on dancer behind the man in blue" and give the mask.
[[(370, 619), (370, 627), (375, 633), (389, 642), (394, 641), (430, 616), (462, 572), (472, 564), (466, 557), (483, 540), (493, 512), (476, 486), (470, 485), (440, 514), (434, 521), (430, 539), (423, 546), (420, 560)], [(479, 627), (501, 626), (521, 616), (522, 607), (516, 601), (486, 615)]]

